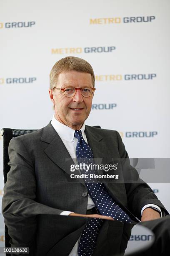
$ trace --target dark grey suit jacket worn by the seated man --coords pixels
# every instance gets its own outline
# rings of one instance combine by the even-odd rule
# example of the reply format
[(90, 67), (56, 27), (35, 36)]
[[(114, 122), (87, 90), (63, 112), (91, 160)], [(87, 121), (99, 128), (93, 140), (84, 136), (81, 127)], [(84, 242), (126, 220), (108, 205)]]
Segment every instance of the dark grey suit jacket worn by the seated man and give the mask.
[[(112, 161), (112, 158), (128, 158), (116, 131), (86, 125), (85, 133), (94, 158), (103, 158), (103, 163)], [(9, 145), (9, 157), (11, 168), (4, 187), (2, 213), (11, 246), (30, 247), (31, 256), (69, 255), (87, 218), (61, 216), (60, 212), (69, 210), (85, 214), (87, 196), (83, 192), (87, 192), (87, 187), (83, 180), (70, 182), (70, 161), (65, 161), (70, 155), (60, 136), (49, 123), (38, 131), (13, 138)], [(150, 187), (144, 182), (138, 183), (135, 169), (129, 168), (128, 172), (127, 169), (119, 170), (122, 181), (127, 174), (128, 179), (137, 182), (105, 184), (122, 208), (138, 218), (142, 207), (148, 203), (165, 210)], [(132, 226), (105, 221), (97, 237), (94, 255), (123, 252)]]

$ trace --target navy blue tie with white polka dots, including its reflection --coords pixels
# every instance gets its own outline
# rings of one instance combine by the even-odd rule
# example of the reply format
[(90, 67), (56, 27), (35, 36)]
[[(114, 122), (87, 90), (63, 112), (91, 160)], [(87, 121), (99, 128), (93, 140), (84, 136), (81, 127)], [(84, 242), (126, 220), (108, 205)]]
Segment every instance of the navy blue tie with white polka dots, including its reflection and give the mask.
[[(93, 155), (90, 146), (82, 137), (81, 131), (75, 131), (75, 138), (78, 139), (76, 146), (76, 156), (78, 164), (92, 164)], [(89, 169), (89, 172), (83, 168), (82, 174), (97, 174), (96, 170)], [(90, 175), (89, 175), (90, 176)], [(107, 188), (99, 180), (90, 179), (89, 176), (84, 179), (88, 193), (95, 203), (98, 212), (101, 215), (109, 216), (120, 222), (131, 223), (130, 217), (122, 210), (112, 199)], [(97, 234), (100, 230), (103, 220), (98, 218), (88, 218), (85, 229), (82, 232), (78, 247), (79, 256), (92, 256), (95, 249)]]

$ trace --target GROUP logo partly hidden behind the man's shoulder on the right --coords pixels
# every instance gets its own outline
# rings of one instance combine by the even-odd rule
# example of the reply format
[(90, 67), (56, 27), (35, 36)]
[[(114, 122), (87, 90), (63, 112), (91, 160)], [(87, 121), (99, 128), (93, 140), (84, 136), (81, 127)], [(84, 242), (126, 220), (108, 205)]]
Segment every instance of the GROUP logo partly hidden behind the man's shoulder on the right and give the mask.
[(119, 133), (122, 138), (153, 138), (158, 135), (158, 131), (127, 131)]

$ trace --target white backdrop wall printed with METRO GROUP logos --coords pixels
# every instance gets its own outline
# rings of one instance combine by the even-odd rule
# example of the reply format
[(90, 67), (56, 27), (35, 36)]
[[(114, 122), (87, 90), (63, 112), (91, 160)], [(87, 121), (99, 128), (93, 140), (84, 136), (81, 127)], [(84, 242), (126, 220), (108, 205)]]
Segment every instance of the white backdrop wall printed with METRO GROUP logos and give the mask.
[[(119, 131), (131, 158), (169, 158), (169, 10), (169, 0), (1, 0), (0, 127), (47, 125), (50, 69), (78, 56), (96, 75), (86, 123)], [(0, 175), (2, 197), (2, 137)], [(170, 210), (170, 184), (150, 185)]]

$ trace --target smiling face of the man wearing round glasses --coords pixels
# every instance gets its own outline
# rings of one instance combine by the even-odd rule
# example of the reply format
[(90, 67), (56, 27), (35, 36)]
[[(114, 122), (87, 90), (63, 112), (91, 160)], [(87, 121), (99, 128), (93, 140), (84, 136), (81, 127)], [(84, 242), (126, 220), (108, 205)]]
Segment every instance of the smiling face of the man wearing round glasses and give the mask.
[[(91, 74), (70, 71), (59, 74), (55, 87), (91, 87)], [(55, 118), (72, 129), (79, 130), (90, 114), (92, 107), (92, 96), (83, 97), (81, 91), (77, 90), (74, 97), (67, 98), (60, 90), (49, 90), (50, 98), (55, 105)]]

